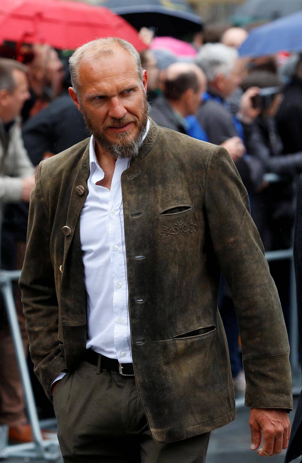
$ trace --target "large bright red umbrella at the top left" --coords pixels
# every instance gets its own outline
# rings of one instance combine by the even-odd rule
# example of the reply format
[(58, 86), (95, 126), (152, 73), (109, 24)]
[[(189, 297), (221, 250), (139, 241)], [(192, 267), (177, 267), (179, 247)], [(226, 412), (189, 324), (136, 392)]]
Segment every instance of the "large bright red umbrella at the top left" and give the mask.
[(46, 43), (59, 50), (100, 37), (120, 37), (138, 51), (148, 48), (138, 32), (102, 6), (54, 0), (0, 0), (0, 42)]

